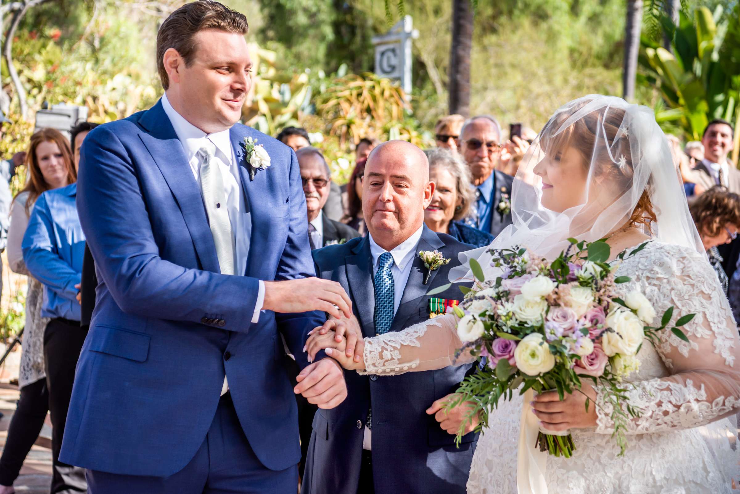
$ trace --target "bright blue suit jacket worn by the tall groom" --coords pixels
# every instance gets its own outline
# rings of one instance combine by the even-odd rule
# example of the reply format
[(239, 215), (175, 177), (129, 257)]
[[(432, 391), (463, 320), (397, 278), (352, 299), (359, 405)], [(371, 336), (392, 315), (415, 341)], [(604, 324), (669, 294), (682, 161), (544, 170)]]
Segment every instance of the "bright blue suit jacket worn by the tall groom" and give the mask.
[[(272, 166), (249, 173), (240, 143), (259, 139)], [(77, 206), (98, 273), (61, 461), (169, 476), (192, 459), (215, 416), (223, 376), (244, 433), (269, 469), (297, 464), (297, 409), (280, 334), (301, 367), (321, 313), (263, 311), (258, 280), (314, 275), (295, 153), (231, 129), (252, 237), (244, 276), (219, 274), (198, 184), (161, 102), (98, 126), (81, 150)]]

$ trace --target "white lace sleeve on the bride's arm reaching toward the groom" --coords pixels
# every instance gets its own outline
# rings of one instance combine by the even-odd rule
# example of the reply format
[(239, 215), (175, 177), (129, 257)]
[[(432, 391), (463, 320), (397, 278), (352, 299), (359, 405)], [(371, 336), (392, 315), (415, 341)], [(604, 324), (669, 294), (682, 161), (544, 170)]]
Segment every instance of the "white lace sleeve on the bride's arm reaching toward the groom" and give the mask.
[(366, 338), (365, 371), (360, 373), (394, 376), (473, 362), (475, 358), (469, 352), (455, 356), (461, 347), (457, 317), (444, 314), (403, 331)]

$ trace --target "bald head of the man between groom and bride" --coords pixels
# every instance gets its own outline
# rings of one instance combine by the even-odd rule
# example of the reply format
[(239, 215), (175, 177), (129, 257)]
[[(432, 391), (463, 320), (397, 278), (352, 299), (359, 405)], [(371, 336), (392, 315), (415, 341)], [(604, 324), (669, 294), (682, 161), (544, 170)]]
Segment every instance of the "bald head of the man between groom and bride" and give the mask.
[(424, 223), (434, 194), (424, 152), (406, 141), (388, 141), (370, 153), (363, 175), (363, 215), (372, 239), (391, 251)]

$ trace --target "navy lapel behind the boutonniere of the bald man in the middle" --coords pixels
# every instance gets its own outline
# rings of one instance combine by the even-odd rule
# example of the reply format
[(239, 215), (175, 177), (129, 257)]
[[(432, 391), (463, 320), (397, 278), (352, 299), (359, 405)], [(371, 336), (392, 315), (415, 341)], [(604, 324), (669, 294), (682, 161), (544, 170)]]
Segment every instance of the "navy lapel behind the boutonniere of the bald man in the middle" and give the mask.
[(411, 273), (408, 274), (408, 281), (406, 282), (406, 288), (403, 289), (403, 297), (401, 297), (401, 303), (398, 306), (396, 315), (393, 318), (391, 324), (391, 331), (401, 331), (405, 328), (405, 323), (408, 319), (415, 314), (419, 313), (419, 309), (425, 304), (425, 294), (432, 287), (434, 277), (439, 272), (438, 269), (431, 271), (429, 275), (429, 281), (424, 285), (424, 277), (426, 275), (426, 268), (424, 262), (418, 255), (419, 251), (434, 251), (443, 248), (445, 243), (440, 239), (440, 236), (434, 233), (424, 226), (419, 240), (419, 246), (414, 255), (414, 261), (411, 265)]

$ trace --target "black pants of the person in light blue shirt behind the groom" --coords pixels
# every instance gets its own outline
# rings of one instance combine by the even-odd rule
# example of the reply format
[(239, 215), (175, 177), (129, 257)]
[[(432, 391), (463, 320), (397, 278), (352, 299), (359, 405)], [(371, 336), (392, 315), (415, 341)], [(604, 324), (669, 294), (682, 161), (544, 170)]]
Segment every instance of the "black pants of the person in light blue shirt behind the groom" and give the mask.
[(84, 468), (59, 461), (64, 424), (72, 398), (75, 367), (80, 357), (87, 331), (80, 323), (68, 319), (52, 319), (44, 331), (44, 359), (46, 359), (49, 410), (52, 423), (53, 476), (50, 494), (87, 493)]

